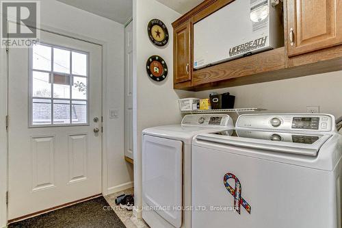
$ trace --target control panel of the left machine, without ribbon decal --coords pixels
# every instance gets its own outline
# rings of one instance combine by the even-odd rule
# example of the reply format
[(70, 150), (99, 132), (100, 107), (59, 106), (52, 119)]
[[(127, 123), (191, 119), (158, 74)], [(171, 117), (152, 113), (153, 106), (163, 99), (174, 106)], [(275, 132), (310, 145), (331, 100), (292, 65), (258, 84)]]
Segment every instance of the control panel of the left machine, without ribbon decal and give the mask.
[(233, 125), (233, 120), (228, 115), (194, 114), (184, 116), (182, 125), (226, 127)]

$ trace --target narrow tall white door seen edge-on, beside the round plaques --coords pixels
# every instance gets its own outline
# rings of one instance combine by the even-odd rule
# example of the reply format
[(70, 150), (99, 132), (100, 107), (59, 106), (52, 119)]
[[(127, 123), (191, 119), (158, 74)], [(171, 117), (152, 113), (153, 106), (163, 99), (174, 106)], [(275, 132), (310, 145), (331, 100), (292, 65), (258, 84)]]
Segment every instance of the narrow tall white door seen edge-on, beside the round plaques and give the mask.
[(124, 34), (124, 155), (133, 159), (133, 22)]

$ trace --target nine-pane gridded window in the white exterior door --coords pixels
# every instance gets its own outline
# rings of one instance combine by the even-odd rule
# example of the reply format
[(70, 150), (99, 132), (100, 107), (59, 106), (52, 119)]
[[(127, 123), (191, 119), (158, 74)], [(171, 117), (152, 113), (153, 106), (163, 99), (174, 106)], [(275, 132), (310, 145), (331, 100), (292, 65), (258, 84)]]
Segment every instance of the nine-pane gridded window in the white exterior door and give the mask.
[(88, 124), (88, 53), (37, 44), (30, 59), (30, 126)]

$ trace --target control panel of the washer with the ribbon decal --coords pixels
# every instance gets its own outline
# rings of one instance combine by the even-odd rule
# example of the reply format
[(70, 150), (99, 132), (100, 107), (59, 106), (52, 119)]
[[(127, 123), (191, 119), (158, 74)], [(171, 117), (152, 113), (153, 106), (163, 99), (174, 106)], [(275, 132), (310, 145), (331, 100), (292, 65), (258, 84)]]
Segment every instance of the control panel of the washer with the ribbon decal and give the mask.
[(245, 114), (236, 127), (299, 131), (332, 131), (334, 116), (328, 114)]

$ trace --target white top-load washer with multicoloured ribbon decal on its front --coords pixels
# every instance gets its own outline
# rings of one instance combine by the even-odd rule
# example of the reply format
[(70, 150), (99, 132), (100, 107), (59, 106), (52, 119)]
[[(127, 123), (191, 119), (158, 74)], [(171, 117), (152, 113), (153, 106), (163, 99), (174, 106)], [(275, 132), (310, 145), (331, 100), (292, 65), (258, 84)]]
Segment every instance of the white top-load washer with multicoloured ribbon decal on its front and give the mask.
[(341, 228), (342, 136), (328, 114), (239, 116), (192, 147), (192, 227)]

